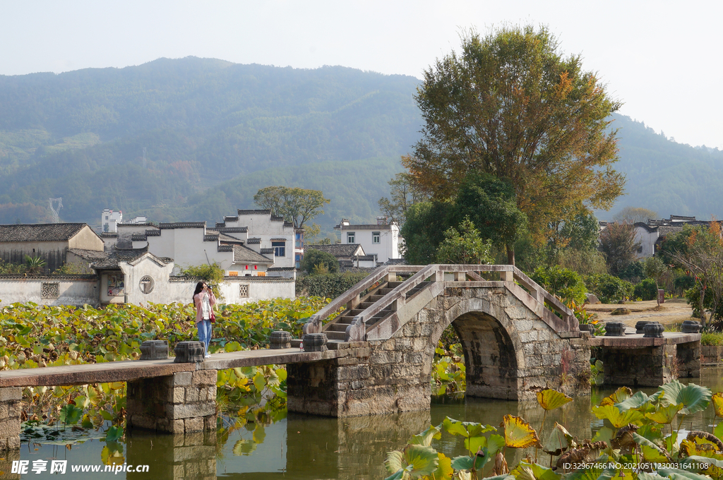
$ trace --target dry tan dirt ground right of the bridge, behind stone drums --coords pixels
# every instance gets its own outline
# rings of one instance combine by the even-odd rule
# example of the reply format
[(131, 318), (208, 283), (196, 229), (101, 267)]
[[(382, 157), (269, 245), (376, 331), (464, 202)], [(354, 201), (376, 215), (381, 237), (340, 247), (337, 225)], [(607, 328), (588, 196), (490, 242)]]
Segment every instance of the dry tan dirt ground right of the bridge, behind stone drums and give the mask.
[[(620, 307), (630, 310), (629, 315), (611, 315), (610, 313)], [(672, 323), (683, 323), (683, 320), (696, 320), (691, 317), (693, 309), (685, 303), (685, 299), (669, 299), (661, 304), (660, 309), (657, 303), (651, 301), (630, 301), (625, 305), (618, 304), (595, 304), (586, 305), (588, 312), (597, 315), (603, 322), (623, 322), (625, 325), (634, 327), (641, 320), (660, 322), (662, 325)]]

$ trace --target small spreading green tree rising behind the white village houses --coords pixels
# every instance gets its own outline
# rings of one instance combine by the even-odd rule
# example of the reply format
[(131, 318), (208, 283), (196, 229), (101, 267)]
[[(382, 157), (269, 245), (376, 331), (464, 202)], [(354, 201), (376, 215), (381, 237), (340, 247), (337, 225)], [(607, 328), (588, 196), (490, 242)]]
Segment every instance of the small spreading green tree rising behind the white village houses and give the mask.
[(271, 215), (283, 217), (287, 222), (294, 223), (294, 228), (304, 228), (307, 220), (324, 214), (322, 207), (330, 200), (324, 198), (321, 190), (265, 187), (254, 195), (254, 202), (260, 207), (271, 210)]

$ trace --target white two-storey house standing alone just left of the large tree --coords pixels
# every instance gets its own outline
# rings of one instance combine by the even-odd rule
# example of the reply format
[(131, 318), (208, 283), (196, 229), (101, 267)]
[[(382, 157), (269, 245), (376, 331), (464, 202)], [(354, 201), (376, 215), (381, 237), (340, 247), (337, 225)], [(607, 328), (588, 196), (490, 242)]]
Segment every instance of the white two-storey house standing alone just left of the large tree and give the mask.
[(341, 244), (360, 244), (367, 255), (377, 257), (378, 263), (401, 258), (399, 226), (387, 223), (385, 217), (377, 217), (377, 223), (372, 225), (352, 225), (342, 219), (334, 229), (341, 231)]

